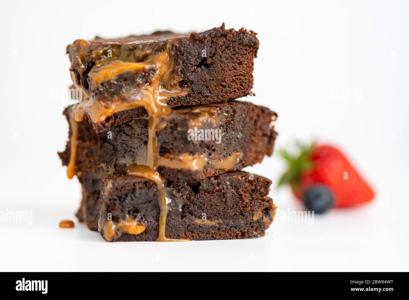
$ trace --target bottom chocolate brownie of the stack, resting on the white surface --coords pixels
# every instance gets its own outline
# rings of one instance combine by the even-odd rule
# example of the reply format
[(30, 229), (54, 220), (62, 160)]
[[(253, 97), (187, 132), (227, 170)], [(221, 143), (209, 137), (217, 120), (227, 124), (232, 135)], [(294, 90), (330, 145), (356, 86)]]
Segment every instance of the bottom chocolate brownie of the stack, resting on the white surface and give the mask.
[[(166, 237), (223, 240), (264, 236), (274, 217), (271, 181), (242, 171), (165, 185)], [(98, 230), (109, 241), (155, 241), (159, 211), (155, 182), (104, 178)]]

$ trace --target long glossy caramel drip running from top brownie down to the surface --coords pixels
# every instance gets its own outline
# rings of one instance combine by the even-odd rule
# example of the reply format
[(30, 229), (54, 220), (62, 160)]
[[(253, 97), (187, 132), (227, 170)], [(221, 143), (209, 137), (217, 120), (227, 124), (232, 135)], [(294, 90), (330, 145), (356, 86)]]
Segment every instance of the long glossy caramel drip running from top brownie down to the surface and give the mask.
[[(73, 45), (74, 50), (78, 51), (74, 54), (72, 59), (72, 69), (78, 69), (85, 64), (85, 56), (89, 55), (89, 43), (83, 41), (76, 41)], [(85, 116), (85, 113), (94, 122), (103, 122), (108, 116), (132, 109), (135, 107), (144, 107), (149, 115), (148, 122), (148, 146), (146, 151), (146, 162), (144, 165), (131, 165), (128, 175), (137, 176), (153, 180), (157, 185), (157, 195), (159, 199), (160, 217), (159, 217), (159, 233), (158, 241), (180, 241), (187, 239), (172, 239), (166, 237), (166, 216), (169, 211), (169, 199), (166, 197), (165, 184), (159, 173), (157, 173), (159, 153), (156, 145), (156, 131), (160, 128), (160, 118), (162, 116), (169, 115), (172, 110), (166, 104), (169, 97), (172, 96), (184, 96), (187, 91), (178, 87), (178, 80), (180, 78), (173, 78), (171, 71), (173, 65), (169, 59), (168, 54), (169, 43), (166, 46), (165, 51), (149, 55), (148, 51), (145, 52), (146, 59), (144, 62), (135, 62), (136, 59), (141, 59), (144, 53), (134, 52), (134, 55), (121, 47), (119, 51), (114, 53), (119, 54), (116, 58), (107, 58), (105, 53), (99, 49), (94, 49), (93, 55), (98, 57), (96, 65), (90, 70), (88, 76), (94, 83), (103, 82), (109, 80), (112, 76), (117, 76), (120, 73), (126, 71), (135, 71), (147, 67), (156, 67), (156, 73), (153, 75), (151, 82), (148, 82), (142, 88), (128, 87), (121, 91), (119, 96), (111, 99), (109, 103), (101, 103), (97, 99), (93, 99), (91, 95), (83, 95), (81, 102), (74, 105), (73, 115), (77, 122), (81, 122)], [(100, 51), (100, 52), (98, 52)], [(136, 58), (135, 58), (136, 55)], [(133, 61), (132, 61), (133, 59)], [(129, 61), (131, 60), (131, 62)], [(109, 62), (103, 64), (104, 62)], [(75, 80), (74, 80), (75, 81)], [(72, 151), (74, 161), (75, 155)], [(116, 227), (115, 227), (116, 228)], [(115, 229), (114, 228), (114, 229)], [(107, 229), (108, 236), (111, 234), (111, 230)], [(115, 233), (115, 232), (114, 232)]]

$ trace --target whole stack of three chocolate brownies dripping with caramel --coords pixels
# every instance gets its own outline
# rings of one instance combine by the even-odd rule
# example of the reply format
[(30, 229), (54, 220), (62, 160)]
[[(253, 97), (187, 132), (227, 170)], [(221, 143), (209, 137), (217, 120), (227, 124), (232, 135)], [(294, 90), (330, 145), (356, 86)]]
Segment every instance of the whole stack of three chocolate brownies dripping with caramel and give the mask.
[(250, 102), (256, 33), (224, 24), (67, 47), (80, 99), (59, 153), (77, 217), (108, 241), (263, 236), (271, 181), (239, 171), (272, 154), (276, 113)]

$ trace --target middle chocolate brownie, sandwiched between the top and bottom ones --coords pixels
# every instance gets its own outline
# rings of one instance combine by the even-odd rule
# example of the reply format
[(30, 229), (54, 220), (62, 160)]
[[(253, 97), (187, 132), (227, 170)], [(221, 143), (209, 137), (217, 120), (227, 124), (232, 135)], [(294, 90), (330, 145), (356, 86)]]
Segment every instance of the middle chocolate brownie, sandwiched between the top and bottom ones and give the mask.
[[(69, 110), (64, 112), (68, 120)], [(173, 109), (157, 122), (157, 171), (164, 179), (194, 181), (261, 162), (272, 153), (276, 117), (242, 101)], [(145, 164), (147, 144), (143, 108), (114, 114), (99, 132), (83, 120), (78, 123), (76, 172), (126, 175), (132, 164)], [(71, 141), (59, 153), (63, 165), (70, 154)]]

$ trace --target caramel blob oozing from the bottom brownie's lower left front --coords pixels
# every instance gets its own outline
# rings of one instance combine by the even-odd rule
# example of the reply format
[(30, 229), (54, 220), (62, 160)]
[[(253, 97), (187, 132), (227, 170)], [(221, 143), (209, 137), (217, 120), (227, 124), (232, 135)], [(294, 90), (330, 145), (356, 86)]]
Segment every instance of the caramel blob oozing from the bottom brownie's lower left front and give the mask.
[(105, 239), (112, 241), (115, 236), (119, 238), (123, 233), (141, 234), (146, 230), (146, 226), (142, 222), (138, 222), (130, 216), (126, 216), (121, 222), (108, 221), (105, 223), (103, 234)]

